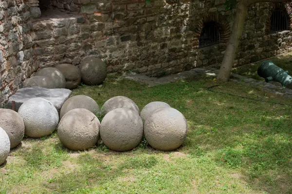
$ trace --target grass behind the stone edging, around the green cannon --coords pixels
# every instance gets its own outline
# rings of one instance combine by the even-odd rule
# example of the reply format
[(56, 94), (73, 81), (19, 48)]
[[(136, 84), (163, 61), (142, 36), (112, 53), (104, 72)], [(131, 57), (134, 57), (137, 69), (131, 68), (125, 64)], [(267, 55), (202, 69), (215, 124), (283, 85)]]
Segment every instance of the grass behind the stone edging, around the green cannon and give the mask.
[[(271, 58), (269, 60), (271, 60), (278, 67), (281, 67), (285, 71), (288, 71), (289, 75), (292, 75), (292, 65), (291, 65), (292, 64), (292, 52)], [(259, 67), (259, 65), (261, 63), (262, 62), (235, 67), (235, 68), (233, 68), (232, 73), (239, 74), (239, 75), (249, 77), (249, 78), (253, 78), (256, 80), (264, 81), (265, 79), (263, 79), (257, 75), (257, 68)]]

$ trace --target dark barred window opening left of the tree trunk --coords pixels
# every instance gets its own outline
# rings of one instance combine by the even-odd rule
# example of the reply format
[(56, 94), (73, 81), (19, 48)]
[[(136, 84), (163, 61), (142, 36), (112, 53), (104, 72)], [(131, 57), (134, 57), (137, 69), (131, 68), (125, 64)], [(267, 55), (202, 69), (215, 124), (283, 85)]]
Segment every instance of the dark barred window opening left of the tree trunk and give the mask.
[(199, 37), (199, 48), (220, 43), (220, 32), (215, 22), (205, 22)]

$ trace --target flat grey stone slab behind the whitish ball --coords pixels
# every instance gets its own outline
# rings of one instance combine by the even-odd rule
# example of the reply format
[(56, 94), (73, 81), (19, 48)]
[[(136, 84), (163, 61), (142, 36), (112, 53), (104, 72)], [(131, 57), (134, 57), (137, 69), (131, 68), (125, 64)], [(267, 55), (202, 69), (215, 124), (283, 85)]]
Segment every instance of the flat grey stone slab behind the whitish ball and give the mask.
[(23, 102), (34, 97), (42, 97), (54, 104), (57, 111), (60, 109), (63, 103), (69, 98), (72, 91), (68, 89), (47, 89), (41, 87), (21, 88), (14, 95), (8, 98), (7, 108), (12, 109), (12, 101), (15, 101), (15, 111), (18, 111)]

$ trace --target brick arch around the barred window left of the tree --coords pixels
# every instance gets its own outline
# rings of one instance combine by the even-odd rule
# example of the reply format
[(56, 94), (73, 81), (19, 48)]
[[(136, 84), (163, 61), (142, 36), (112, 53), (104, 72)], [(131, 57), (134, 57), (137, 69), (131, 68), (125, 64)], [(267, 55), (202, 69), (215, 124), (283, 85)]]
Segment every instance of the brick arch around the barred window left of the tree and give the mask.
[(208, 15), (204, 16), (197, 24), (194, 30), (192, 45), (194, 49), (199, 48), (199, 37), (204, 27), (205, 22), (215, 22), (220, 32), (220, 43), (227, 43), (230, 36), (230, 25), (223, 16)]

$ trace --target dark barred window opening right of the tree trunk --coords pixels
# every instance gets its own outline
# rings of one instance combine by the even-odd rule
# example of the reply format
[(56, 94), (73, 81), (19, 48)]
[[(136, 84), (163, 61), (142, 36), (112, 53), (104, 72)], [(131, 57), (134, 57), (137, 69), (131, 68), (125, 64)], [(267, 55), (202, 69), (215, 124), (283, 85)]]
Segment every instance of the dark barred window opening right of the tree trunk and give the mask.
[(288, 30), (288, 18), (284, 11), (275, 10), (271, 16), (271, 28), (270, 31), (280, 32)]

